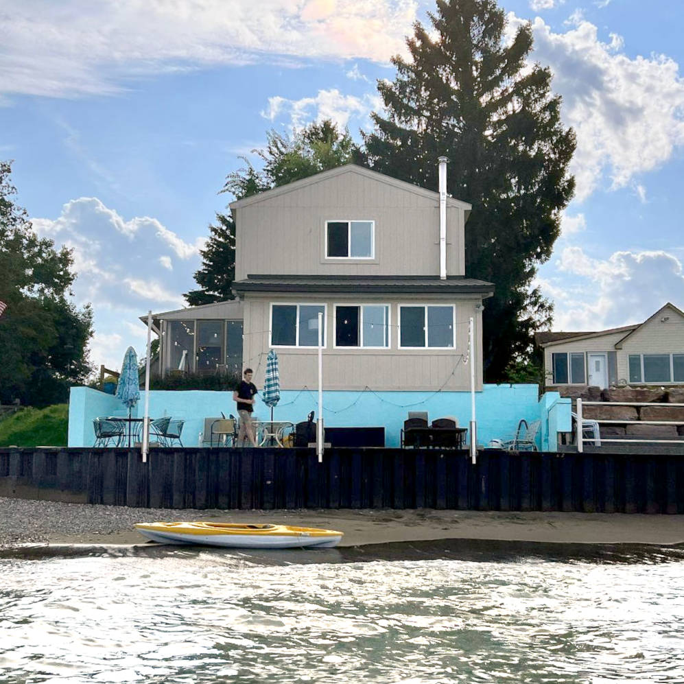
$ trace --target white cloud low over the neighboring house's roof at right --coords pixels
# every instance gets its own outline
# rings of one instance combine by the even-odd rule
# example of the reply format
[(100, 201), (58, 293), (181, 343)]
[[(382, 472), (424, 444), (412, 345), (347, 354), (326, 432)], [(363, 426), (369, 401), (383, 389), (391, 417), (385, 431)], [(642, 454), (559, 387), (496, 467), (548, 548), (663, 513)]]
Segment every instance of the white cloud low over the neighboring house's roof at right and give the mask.
[(663, 250), (618, 251), (593, 259), (578, 246), (562, 250), (561, 279), (537, 281), (556, 305), (555, 330), (602, 330), (646, 320), (665, 302), (684, 307), (684, 269)]

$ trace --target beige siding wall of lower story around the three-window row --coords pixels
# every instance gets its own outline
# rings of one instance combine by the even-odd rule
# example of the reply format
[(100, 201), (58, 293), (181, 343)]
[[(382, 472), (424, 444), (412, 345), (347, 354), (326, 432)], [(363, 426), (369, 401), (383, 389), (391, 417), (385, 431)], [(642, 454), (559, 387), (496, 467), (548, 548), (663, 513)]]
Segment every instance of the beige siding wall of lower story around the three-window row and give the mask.
[[(327, 305), (326, 347), (323, 350), (323, 386), (327, 390), (470, 390), (470, 366), (464, 365), (461, 355), (468, 349), (469, 318), (475, 318), (475, 385), (482, 389), (482, 313), (476, 309), (477, 298), (411, 298), (362, 296), (307, 295), (249, 296), (245, 301), (244, 365), (255, 369), (257, 386), (263, 386), (266, 354), (269, 349), (270, 304), (312, 303)], [(390, 305), (389, 349), (333, 349), (333, 305), (335, 304)], [(456, 349), (415, 350), (398, 349), (397, 309), (399, 304), (455, 304)], [(249, 331), (249, 332), (248, 332)], [(318, 349), (276, 348), (279, 358), (281, 388), (300, 390), (307, 386), (318, 388)], [(454, 368), (456, 368), (454, 372)], [(452, 375), (453, 372), (453, 375)]]

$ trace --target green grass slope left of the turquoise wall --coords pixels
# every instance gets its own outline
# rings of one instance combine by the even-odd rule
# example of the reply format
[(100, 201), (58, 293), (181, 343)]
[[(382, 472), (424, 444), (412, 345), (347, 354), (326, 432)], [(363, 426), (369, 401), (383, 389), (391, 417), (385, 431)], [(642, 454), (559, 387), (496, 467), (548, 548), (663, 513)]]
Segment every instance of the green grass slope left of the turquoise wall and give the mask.
[(66, 447), (67, 404), (25, 408), (0, 421), (0, 447)]

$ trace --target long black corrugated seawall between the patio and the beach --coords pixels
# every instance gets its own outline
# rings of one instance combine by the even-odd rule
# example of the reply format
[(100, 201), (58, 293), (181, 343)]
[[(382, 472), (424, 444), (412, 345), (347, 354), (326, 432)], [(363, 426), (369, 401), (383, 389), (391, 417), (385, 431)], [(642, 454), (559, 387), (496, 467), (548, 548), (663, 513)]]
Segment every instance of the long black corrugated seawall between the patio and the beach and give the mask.
[(143, 508), (684, 513), (684, 455), (0, 448), (0, 496)]

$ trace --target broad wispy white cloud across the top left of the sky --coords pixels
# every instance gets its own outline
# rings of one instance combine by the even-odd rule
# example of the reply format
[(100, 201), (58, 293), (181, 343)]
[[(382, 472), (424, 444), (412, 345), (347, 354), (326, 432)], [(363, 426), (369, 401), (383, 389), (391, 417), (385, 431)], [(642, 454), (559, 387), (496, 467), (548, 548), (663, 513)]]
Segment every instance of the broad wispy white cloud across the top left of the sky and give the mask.
[(127, 78), (212, 64), (405, 51), (417, 0), (9, 0), (0, 93), (115, 93)]

